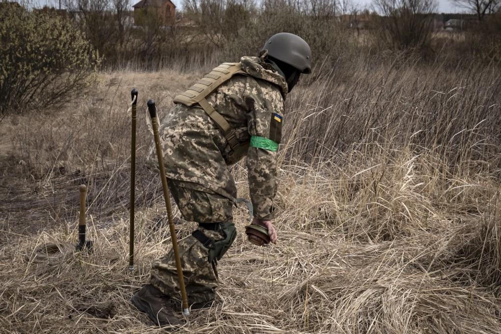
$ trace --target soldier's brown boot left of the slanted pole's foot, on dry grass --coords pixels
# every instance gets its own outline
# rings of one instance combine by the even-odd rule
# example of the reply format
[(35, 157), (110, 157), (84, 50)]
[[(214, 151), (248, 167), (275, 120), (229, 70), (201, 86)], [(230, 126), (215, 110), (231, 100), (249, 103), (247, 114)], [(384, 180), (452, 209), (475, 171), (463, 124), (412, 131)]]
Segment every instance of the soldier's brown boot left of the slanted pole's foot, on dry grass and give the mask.
[(158, 326), (178, 325), (184, 323), (182, 317), (174, 314), (175, 305), (170, 297), (151, 284), (144, 285), (131, 298), (130, 302)]

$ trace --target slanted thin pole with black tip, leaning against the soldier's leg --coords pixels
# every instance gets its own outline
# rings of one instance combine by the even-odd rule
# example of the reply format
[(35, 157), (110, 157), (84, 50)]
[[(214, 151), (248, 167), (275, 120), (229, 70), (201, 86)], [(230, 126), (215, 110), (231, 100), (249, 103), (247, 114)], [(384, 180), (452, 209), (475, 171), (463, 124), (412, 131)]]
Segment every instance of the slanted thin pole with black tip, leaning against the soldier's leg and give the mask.
[(162, 149), (160, 148), (160, 136), (158, 135), (158, 120), (156, 117), (155, 101), (148, 101), (148, 110), (151, 117), (151, 127), (153, 128), (153, 136), (155, 137), (155, 148), (158, 157), (158, 168), (160, 168), (160, 178), (162, 179), (163, 198), (165, 199), (165, 208), (167, 209), (167, 218), (169, 220), (170, 236), (172, 239), (172, 249), (176, 258), (177, 278), (179, 279), (179, 288), (181, 289), (183, 314), (189, 315), (188, 297), (186, 296), (186, 288), (184, 286), (183, 269), (181, 266), (181, 258), (179, 257), (179, 248), (177, 247), (177, 235), (172, 219), (172, 206), (170, 205), (170, 193), (167, 186), (167, 177), (165, 176), (165, 166), (163, 165)]

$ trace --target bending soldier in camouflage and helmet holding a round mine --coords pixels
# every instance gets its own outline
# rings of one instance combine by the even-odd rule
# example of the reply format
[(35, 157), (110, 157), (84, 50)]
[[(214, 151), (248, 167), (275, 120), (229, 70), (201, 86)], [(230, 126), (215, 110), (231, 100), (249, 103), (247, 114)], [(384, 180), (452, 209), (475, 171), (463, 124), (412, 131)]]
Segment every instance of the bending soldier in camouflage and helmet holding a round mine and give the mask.
[[(236, 237), (232, 207), (236, 186), (228, 166), (247, 155), (253, 223), (273, 225), (277, 154), (284, 122), (284, 99), (301, 74), (311, 73), (311, 51), (300, 37), (280, 33), (260, 57), (224, 63), (174, 98), (160, 124), (169, 188), (183, 218), (198, 229), (179, 241), (191, 309), (210, 306), (217, 287), (216, 264)], [(157, 325), (179, 324), (172, 249), (153, 262), (149, 284), (131, 302)]]

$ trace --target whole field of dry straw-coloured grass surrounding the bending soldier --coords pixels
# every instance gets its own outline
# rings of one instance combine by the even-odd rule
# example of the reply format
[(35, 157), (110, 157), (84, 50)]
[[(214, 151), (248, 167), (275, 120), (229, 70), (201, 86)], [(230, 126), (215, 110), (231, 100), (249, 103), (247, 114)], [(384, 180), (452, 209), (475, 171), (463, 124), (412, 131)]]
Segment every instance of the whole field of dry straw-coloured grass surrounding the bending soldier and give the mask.
[[(499, 332), (499, 70), (370, 66), (291, 96), (279, 242), (249, 244), (247, 213), (236, 209), (218, 301), (179, 332)], [(128, 303), (170, 239), (140, 113), (128, 272), (126, 110), (132, 87), (141, 109), (153, 97), (161, 111), (196, 77), (103, 74), (79, 104), (0, 124), (1, 332), (163, 332)], [(243, 166), (233, 168), (241, 195)], [(37, 246), (76, 241), (83, 182), (95, 252), (37, 262)], [(182, 237), (193, 224), (178, 228)]]

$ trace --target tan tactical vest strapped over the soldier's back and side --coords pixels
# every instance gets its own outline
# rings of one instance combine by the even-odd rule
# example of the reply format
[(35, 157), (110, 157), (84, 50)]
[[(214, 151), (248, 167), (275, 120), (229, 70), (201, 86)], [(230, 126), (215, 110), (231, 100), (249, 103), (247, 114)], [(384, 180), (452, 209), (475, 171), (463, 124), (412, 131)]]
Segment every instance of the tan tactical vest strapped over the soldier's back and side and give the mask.
[(228, 160), (231, 162), (236, 162), (239, 157), (247, 152), (249, 142), (239, 142), (237, 140), (235, 129), (231, 128), (224, 117), (208, 103), (206, 97), (235, 74), (248, 76), (246, 72), (242, 71), (240, 63), (223, 63), (198, 80), (186, 92), (174, 98), (174, 103), (181, 103), (188, 107), (198, 104), (217, 124), (228, 141), (230, 147)]

